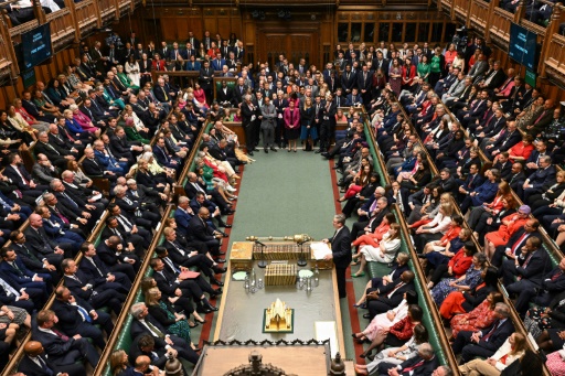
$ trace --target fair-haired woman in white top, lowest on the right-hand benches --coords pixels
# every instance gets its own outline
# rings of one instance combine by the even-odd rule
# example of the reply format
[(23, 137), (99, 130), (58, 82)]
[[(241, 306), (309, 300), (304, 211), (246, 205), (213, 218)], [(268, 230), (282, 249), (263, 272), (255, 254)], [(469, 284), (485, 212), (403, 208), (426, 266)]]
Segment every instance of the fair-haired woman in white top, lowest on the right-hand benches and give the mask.
[(472, 359), (459, 366), (465, 376), (499, 376), (505, 367), (520, 359), (525, 351), (525, 336), (513, 333), (488, 359)]

